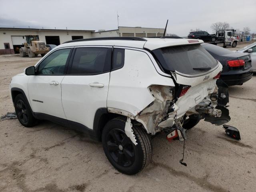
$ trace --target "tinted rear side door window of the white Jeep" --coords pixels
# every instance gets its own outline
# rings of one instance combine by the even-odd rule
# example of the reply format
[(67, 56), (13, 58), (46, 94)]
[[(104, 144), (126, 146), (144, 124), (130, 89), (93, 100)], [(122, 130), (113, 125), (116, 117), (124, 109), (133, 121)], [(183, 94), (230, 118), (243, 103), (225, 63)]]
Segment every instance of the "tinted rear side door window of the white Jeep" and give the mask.
[(112, 48), (76, 48), (69, 74), (99, 74), (110, 71)]

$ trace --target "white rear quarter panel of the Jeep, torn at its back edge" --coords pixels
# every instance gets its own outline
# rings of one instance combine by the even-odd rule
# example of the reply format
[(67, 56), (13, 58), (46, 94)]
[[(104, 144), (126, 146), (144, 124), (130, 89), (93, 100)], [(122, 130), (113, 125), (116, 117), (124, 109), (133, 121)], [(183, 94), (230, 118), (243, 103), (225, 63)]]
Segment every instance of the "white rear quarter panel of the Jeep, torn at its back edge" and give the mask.
[(123, 110), (136, 116), (155, 100), (148, 90), (150, 85), (174, 86), (174, 82), (158, 74), (145, 52), (126, 49), (123, 68), (110, 72), (109, 112)]

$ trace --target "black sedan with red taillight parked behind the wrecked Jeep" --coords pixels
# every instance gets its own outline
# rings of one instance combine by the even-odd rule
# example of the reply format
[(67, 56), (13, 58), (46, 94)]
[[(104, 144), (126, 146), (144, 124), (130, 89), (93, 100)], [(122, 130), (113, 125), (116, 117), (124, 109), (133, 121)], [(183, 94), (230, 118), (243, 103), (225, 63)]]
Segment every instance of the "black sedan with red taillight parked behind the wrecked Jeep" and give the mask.
[(220, 78), (228, 86), (242, 85), (252, 78), (250, 54), (234, 53), (228, 49), (208, 43), (203, 43), (202, 46), (222, 64)]

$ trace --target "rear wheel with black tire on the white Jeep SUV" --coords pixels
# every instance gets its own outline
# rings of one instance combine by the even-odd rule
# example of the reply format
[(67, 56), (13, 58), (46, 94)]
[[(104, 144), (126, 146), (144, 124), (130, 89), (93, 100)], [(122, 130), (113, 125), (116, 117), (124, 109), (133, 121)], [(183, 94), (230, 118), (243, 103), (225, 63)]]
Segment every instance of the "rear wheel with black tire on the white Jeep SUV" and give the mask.
[(102, 131), (102, 145), (106, 157), (119, 172), (132, 175), (145, 168), (152, 157), (152, 144), (146, 131), (132, 126), (135, 145), (125, 134), (126, 120), (114, 118), (107, 122)]

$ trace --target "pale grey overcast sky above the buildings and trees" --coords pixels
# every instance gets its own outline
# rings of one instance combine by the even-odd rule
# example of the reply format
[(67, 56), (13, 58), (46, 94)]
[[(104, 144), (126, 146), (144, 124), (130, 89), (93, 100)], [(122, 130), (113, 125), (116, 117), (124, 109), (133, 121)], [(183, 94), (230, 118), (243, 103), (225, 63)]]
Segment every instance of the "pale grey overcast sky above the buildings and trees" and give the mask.
[(112, 30), (119, 26), (164, 28), (187, 36), (212, 33), (214, 22), (256, 33), (256, 0), (0, 0), (0, 27)]

